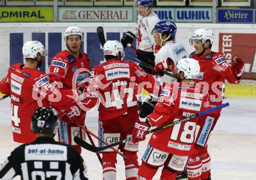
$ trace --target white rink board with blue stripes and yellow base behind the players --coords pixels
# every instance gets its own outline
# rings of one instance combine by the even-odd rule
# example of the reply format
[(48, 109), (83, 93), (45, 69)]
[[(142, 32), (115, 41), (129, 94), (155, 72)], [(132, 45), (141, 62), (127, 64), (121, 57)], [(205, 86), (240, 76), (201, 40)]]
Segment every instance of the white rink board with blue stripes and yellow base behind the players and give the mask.
[[(49, 61), (56, 53), (66, 49), (65, 42), (63, 41), (63, 32), (66, 27), (72, 25), (79, 25), (84, 31), (84, 43), (82, 50), (88, 54), (91, 60), (91, 67), (100, 64), (104, 59), (102, 47), (99, 44), (96, 29), (99, 25), (104, 27), (105, 36), (107, 40), (120, 40), (123, 33), (126, 31), (133, 31), (136, 27), (134, 23), (1, 23), (0, 33), (0, 78), (3, 78), (8, 68), (13, 63), (23, 63), (22, 46), (26, 41), (37, 40), (42, 42), (48, 50), (48, 57), (45, 58), (45, 63), (41, 70), (48, 72)], [(188, 52), (193, 52), (193, 47), (189, 45), (189, 38), (193, 31), (197, 28), (209, 27), (215, 33), (214, 45), (212, 50), (225, 54), (228, 58), (236, 52), (232, 48), (236, 47), (239, 42), (234, 41), (237, 39), (237, 34), (241, 34), (239, 38), (246, 34), (246, 38), (250, 35), (256, 35), (255, 24), (190, 24), (190, 23), (177, 23), (176, 40), (182, 43)], [(243, 33), (241, 33), (243, 32)], [(233, 37), (233, 40), (232, 40)], [(249, 41), (248, 41), (249, 42)], [(134, 42), (134, 46), (135, 46)], [(250, 57), (243, 53), (243, 60), (245, 61), (246, 73), (243, 79), (256, 80), (256, 45), (251, 45)], [(241, 47), (240, 47), (241, 49)], [(135, 52), (132, 49), (125, 48), (126, 56), (134, 57)], [(256, 81), (255, 81), (256, 82)], [(255, 83), (254, 83), (255, 85)], [(227, 85), (227, 96), (255, 96), (254, 85)]]

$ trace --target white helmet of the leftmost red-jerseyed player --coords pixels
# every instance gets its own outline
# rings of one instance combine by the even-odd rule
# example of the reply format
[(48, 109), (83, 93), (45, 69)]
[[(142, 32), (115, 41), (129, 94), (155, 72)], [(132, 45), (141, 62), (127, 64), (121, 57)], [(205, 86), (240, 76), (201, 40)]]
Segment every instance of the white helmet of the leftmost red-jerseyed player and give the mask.
[(47, 56), (47, 50), (44, 48), (39, 41), (27, 41), (22, 47), (22, 53), (24, 58), (37, 58), (37, 53), (40, 53), (41, 56)]

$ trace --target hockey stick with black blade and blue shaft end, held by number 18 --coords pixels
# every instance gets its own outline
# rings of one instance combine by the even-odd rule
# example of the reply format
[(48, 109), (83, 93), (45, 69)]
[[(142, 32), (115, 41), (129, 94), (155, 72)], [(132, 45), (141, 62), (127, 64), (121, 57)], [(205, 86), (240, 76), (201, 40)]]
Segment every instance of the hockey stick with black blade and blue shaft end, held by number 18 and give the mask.
[[(154, 128), (154, 129), (152, 129), (152, 130), (147, 131), (146, 134), (150, 134), (150, 133), (154, 133), (155, 131), (163, 130), (164, 128), (168, 128), (168, 127), (170, 127), (170, 126), (174, 126), (175, 124), (183, 123), (183, 122), (185, 122), (185, 121), (187, 121), (187, 120), (190, 120), (190, 119), (193, 119), (193, 118), (195, 118), (195, 117), (197, 117), (197, 116), (202, 116), (202, 115), (205, 115), (205, 114), (207, 114), (207, 113), (216, 111), (216, 110), (218, 110), (218, 109), (225, 108), (226, 106), (229, 106), (229, 103), (228, 103), (228, 102), (225, 103), (225, 104), (216, 106), (215, 108), (211, 108), (211, 109), (208, 109), (208, 110), (206, 110), (206, 111), (202, 111), (202, 112), (195, 113), (194, 115), (191, 115), (191, 116), (189, 116), (189, 117), (185, 117), (184, 119), (180, 119), (180, 120), (177, 120), (177, 121), (175, 121), (175, 122), (168, 123), (168, 124), (163, 125), (163, 126), (159, 126), (159, 127), (157, 127), (157, 128)], [(123, 144), (123, 143), (125, 143), (125, 142), (127, 142), (127, 141), (130, 141), (131, 138), (132, 138), (132, 137), (123, 139), (122, 141), (115, 142), (115, 143), (113, 143), (113, 144), (111, 144), (111, 145), (107, 145), (107, 146), (104, 146), (104, 147), (102, 147), (102, 148), (99, 148), (99, 147), (96, 147), (96, 146), (92, 146), (92, 145), (88, 144), (87, 142), (83, 141), (82, 139), (80, 139), (80, 140), (81, 140), (81, 141), (80, 141), (80, 145), (81, 145), (83, 148), (85, 148), (85, 149), (87, 149), (87, 150), (90, 150), (91, 152), (99, 152), (99, 151), (101, 151), (101, 150), (105, 150), (105, 149), (108, 149), (108, 148), (112, 148), (113, 146), (116, 146), (116, 145), (119, 145), (119, 144)]]

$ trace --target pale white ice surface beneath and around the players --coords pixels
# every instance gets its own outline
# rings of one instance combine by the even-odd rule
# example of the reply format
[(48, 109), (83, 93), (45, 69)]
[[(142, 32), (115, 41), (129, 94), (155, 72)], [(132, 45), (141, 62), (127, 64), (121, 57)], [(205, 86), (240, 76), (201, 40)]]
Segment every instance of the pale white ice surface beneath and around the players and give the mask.
[[(256, 179), (256, 98), (227, 98), (225, 102), (229, 102), (230, 106), (223, 109), (209, 141), (212, 179)], [(2, 162), (18, 144), (12, 142), (9, 125), (10, 101), (1, 101), (0, 109), (0, 161)], [(86, 122), (87, 128), (97, 134), (96, 110), (88, 113)], [(141, 142), (139, 158), (143, 155), (147, 142)], [(96, 139), (95, 143), (97, 144)], [(82, 156), (87, 163), (90, 179), (101, 180), (101, 165), (95, 153), (83, 150)], [(125, 166), (121, 156), (118, 156), (116, 167), (117, 179), (125, 179)], [(160, 172), (159, 170), (154, 179), (159, 179)]]

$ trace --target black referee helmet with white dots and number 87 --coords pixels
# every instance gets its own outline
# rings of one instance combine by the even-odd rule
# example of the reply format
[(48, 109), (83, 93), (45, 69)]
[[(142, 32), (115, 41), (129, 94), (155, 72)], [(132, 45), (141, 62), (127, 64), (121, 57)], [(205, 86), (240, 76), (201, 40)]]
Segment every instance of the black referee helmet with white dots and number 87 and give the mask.
[(58, 112), (54, 108), (40, 107), (32, 115), (31, 130), (34, 133), (53, 134), (58, 120)]

